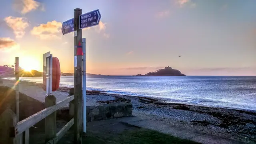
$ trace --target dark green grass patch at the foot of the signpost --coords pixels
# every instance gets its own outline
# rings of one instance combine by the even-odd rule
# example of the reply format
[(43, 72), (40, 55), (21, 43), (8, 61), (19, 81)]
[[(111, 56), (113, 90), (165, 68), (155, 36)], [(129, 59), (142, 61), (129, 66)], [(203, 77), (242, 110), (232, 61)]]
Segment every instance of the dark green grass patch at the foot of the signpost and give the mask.
[(101, 135), (88, 132), (85, 144), (200, 144), (148, 129), (125, 130), (121, 134)]

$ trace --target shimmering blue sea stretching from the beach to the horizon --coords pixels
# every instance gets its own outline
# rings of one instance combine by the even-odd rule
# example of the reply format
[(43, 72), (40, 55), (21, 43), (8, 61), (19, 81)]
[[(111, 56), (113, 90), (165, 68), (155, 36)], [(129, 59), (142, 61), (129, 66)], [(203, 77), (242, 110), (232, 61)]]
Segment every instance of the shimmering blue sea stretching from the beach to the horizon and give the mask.
[[(20, 80), (43, 81), (42, 77)], [(74, 76), (62, 76), (60, 86), (74, 87)], [(256, 110), (256, 76), (97, 76), (86, 78), (86, 90), (154, 97), (170, 103)]]

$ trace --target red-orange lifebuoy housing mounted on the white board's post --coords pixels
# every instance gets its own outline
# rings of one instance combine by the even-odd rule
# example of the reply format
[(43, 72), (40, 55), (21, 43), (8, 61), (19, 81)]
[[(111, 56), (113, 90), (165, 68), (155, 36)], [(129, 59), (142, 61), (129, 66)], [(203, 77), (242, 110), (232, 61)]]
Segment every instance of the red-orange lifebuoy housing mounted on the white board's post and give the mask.
[[(60, 61), (56, 57), (52, 57), (52, 91), (58, 90), (60, 86)], [(43, 89), (46, 90), (46, 77), (44, 76)]]

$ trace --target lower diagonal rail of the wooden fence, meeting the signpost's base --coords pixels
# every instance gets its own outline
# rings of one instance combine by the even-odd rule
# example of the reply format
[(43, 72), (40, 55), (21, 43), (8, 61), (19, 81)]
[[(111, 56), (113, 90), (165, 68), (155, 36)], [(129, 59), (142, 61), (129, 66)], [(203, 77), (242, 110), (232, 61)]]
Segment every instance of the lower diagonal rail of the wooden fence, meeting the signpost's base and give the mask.
[(56, 135), (55, 138), (49, 140), (46, 144), (57, 144), (57, 142), (64, 136), (64, 134), (71, 128), (74, 124), (74, 118), (72, 118)]

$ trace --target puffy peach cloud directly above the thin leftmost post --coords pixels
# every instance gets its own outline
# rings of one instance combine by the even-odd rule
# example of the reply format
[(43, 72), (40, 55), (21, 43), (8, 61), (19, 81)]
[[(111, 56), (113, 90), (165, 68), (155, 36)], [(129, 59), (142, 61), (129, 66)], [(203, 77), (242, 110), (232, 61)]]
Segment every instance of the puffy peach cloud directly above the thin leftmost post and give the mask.
[(16, 38), (22, 38), (25, 34), (25, 28), (28, 27), (28, 22), (25, 18), (9, 16), (4, 18), (6, 24), (12, 28)]

